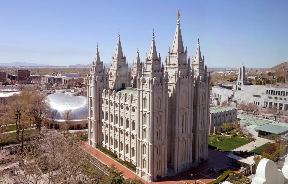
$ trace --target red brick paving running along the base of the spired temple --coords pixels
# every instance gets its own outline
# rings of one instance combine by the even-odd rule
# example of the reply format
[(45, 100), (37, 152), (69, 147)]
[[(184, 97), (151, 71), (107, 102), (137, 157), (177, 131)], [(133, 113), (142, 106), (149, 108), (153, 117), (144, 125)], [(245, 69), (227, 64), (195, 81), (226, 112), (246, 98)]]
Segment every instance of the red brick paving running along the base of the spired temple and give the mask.
[[(80, 142), (79, 145), (82, 148), (84, 148), (85, 150), (87, 150), (89, 153), (91, 153), (92, 155), (96, 156), (99, 160), (104, 162), (106, 165), (108, 165), (108, 166), (110, 166), (112, 164), (116, 165), (116, 167), (120, 171), (124, 171), (123, 175), (125, 178), (137, 177), (137, 179), (142, 180), (143, 183), (148, 184), (147, 181), (145, 181), (141, 177), (137, 176), (136, 173), (127, 169), (123, 165), (119, 164), (119, 162), (110, 158), (109, 156), (107, 156), (106, 154), (97, 150), (96, 148), (88, 145), (86, 142)], [(227, 155), (226, 153), (223, 153), (223, 152), (209, 148), (209, 159), (208, 160), (201, 162), (197, 167), (195, 167), (193, 169), (188, 169), (187, 171), (179, 173), (173, 177), (164, 177), (161, 180), (153, 182), (153, 184), (176, 184), (176, 183), (179, 183), (179, 184), (184, 184), (184, 183), (191, 184), (191, 183), (193, 183), (194, 184), (195, 180), (196, 180), (196, 183), (199, 183), (199, 184), (209, 183), (209, 182), (217, 179), (217, 177), (219, 177), (220, 174), (208, 172), (207, 171), (208, 167), (209, 168), (215, 167), (216, 170), (219, 170), (221, 168), (226, 168), (226, 169), (229, 169), (231, 171), (239, 173), (240, 171), (238, 171), (236, 168), (233, 168), (231, 166), (226, 165), (226, 163), (228, 162), (228, 158), (226, 157), (226, 155)], [(193, 177), (188, 178), (188, 175), (191, 173), (193, 174)]]

